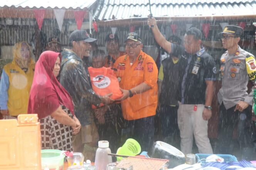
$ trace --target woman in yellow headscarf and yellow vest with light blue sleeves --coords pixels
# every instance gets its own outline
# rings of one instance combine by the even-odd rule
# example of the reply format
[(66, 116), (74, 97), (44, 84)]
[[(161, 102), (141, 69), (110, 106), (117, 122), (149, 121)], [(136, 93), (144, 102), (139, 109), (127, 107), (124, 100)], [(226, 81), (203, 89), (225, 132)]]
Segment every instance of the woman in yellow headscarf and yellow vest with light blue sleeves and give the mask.
[(0, 81), (0, 110), (3, 116), (27, 114), (35, 61), (27, 42), (13, 46), (13, 61), (3, 67)]

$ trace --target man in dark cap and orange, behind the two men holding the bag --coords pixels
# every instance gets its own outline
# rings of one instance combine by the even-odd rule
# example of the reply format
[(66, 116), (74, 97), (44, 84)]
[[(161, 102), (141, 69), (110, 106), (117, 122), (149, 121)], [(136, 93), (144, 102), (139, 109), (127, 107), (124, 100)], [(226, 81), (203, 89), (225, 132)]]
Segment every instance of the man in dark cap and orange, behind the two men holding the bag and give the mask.
[(125, 52), (120, 51), (119, 38), (117, 34), (108, 34), (105, 38), (108, 56), (105, 59), (105, 67), (112, 67), (118, 57), (125, 55)]

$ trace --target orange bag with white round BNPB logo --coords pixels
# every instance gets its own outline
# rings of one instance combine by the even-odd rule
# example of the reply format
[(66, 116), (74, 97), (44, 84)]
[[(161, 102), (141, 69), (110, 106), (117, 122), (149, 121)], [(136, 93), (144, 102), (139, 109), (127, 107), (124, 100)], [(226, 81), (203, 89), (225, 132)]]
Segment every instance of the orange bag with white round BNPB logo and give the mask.
[[(123, 96), (123, 93), (120, 90), (118, 79), (116, 74), (111, 68), (88, 68), (91, 85), (93, 91), (99, 96), (105, 96), (106, 94), (113, 93), (110, 96), (111, 99), (119, 99)], [(103, 104), (102, 104), (103, 106)], [(93, 106), (93, 109), (96, 107)]]

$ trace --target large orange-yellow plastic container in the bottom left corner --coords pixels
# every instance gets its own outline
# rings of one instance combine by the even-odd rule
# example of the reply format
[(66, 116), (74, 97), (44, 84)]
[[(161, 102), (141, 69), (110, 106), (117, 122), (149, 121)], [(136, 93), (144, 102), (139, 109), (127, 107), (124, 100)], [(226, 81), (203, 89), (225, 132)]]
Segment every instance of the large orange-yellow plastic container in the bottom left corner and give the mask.
[(0, 120), (0, 170), (41, 170), (40, 140), (37, 114)]

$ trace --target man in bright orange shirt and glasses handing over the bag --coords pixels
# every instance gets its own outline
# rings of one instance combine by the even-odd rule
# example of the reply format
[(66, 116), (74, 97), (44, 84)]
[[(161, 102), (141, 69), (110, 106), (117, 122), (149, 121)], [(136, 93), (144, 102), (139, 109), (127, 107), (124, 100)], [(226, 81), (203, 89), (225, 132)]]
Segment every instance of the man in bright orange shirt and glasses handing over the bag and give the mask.
[(143, 44), (136, 33), (129, 33), (125, 41), (126, 55), (119, 57), (114, 68), (120, 82), (123, 97), (123, 117), (128, 128), (133, 129), (133, 138), (142, 150), (153, 144), (154, 117), (157, 109), (157, 65), (151, 56), (141, 49)]

